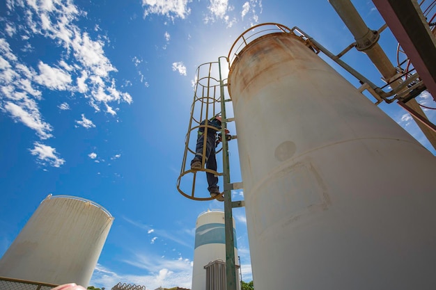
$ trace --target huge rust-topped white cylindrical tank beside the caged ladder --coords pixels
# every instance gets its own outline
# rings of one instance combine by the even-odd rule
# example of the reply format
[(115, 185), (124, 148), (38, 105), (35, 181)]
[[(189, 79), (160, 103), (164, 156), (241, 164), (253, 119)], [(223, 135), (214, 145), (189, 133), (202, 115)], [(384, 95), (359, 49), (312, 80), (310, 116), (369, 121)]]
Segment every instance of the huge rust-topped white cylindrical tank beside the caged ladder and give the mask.
[(290, 33), (228, 79), (256, 289), (435, 289), (435, 156)]

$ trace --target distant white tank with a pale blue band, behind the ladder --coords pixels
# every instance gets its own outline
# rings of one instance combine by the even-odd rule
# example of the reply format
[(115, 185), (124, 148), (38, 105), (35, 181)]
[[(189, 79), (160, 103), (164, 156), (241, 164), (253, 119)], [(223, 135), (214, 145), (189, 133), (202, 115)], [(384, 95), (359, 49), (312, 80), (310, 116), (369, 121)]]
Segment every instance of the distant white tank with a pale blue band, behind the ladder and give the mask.
[[(236, 237), (235, 220), (233, 236)], [(235, 257), (238, 250), (235, 240)], [(195, 230), (194, 265), (192, 268), (192, 290), (206, 289), (206, 270), (210, 262), (226, 262), (226, 235), (224, 230), (224, 211), (206, 211), (198, 216)], [(238, 272), (238, 259), (235, 259)], [(236, 286), (240, 289), (240, 275), (236, 275)]]

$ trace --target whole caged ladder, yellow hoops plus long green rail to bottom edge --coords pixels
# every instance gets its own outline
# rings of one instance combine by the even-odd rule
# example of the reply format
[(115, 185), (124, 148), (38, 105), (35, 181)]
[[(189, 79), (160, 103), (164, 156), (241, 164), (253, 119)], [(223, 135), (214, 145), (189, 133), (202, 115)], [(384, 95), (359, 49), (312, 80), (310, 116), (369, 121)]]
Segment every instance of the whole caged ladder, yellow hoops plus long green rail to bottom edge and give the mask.
[[(223, 79), (221, 74), (221, 63), (226, 63), (228, 59), (220, 57), (217, 62), (203, 63), (198, 66), (196, 71), (196, 83), (194, 85), (194, 100), (191, 107), (191, 116), (189, 118), (189, 127), (185, 138), (185, 152), (183, 154), (182, 168), (177, 179), (177, 189), (179, 193), (186, 198), (192, 200), (217, 200), (224, 199), (224, 225), (226, 234), (226, 290), (236, 290), (236, 267), (235, 267), (235, 241), (233, 237), (233, 207), (242, 207), (243, 201), (232, 202), (231, 190), (239, 189), (242, 183), (231, 184), (230, 166), (228, 162), (228, 141), (231, 138), (225, 138), (227, 123), (233, 119), (226, 117), (226, 102), (230, 99), (224, 97), (224, 87), (226, 87), (226, 79)], [(217, 115), (221, 116), (221, 128), (214, 127), (209, 122), (203, 120), (211, 120)], [(217, 157), (222, 154), (222, 172), (206, 168), (205, 150), (208, 138), (203, 138), (203, 152), (201, 154), (201, 168), (191, 168), (191, 160), (196, 154), (196, 142), (198, 129), (204, 131), (204, 136), (208, 136), (208, 131), (220, 131), (221, 148), (217, 148)], [(211, 173), (216, 177), (222, 177), (221, 182), (224, 191), (219, 195), (211, 196), (206, 191), (206, 186), (203, 185), (205, 173)], [(198, 175), (201, 175), (199, 177)], [(201, 179), (201, 182), (198, 180)], [(208, 290), (208, 289), (206, 289)]]

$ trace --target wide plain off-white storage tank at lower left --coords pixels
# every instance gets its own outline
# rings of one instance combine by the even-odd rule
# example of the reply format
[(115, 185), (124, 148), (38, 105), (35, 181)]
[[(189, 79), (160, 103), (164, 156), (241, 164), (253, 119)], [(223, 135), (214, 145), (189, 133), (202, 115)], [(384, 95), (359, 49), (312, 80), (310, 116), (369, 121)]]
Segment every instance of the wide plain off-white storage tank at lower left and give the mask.
[(114, 218), (95, 202), (43, 200), (0, 260), (0, 276), (88, 286)]

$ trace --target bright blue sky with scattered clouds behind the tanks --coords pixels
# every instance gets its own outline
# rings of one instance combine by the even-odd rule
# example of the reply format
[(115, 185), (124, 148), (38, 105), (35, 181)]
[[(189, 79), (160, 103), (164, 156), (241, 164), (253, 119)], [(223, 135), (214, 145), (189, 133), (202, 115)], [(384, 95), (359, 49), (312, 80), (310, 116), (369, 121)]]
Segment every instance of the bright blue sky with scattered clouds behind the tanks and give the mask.
[[(355, 6), (371, 29), (382, 26), (371, 1)], [(196, 218), (223, 209), (176, 189), (196, 67), (263, 22), (299, 26), (334, 54), (354, 42), (327, 0), (1, 0), (0, 256), (49, 193), (75, 195), (115, 217), (91, 284), (190, 288)], [(396, 63), (389, 29), (380, 45)], [(343, 59), (383, 85), (364, 54)], [(426, 92), (418, 101), (435, 107)], [(400, 106), (380, 108), (435, 154)], [(240, 182), (237, 141), (230, 150)], [(249, 282), (244, 209), (233, 216)]]

